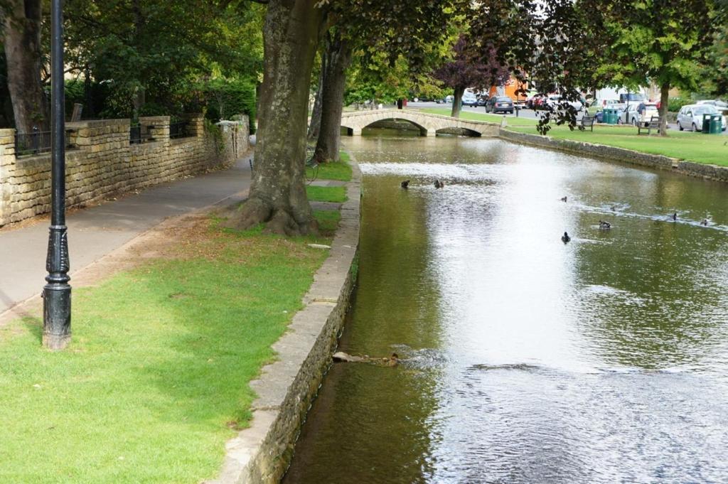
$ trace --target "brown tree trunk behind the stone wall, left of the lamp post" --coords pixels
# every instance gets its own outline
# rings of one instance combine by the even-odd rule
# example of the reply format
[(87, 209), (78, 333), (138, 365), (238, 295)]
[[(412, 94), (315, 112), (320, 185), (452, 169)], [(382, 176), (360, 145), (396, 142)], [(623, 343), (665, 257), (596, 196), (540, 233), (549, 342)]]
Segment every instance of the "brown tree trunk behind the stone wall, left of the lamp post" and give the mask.
[[(12, 0), (4, 18), (7, 87), (15, 129), (47, 130), (48, 116), (41, 84), (41, 0)], [(12, 66), (12, 67), (11, 67)]]

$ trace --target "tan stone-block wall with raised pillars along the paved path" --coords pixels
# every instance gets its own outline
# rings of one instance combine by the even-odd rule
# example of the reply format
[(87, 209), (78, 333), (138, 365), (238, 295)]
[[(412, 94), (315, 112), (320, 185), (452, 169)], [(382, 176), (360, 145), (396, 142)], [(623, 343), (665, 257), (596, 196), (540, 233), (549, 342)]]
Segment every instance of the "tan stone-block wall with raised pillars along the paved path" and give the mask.
[[(170, 139), (170, 117), (140, 118), (152, 140), (130, 144), (129, 119), (69, 122), (66, 206), (227, 167), (248, 149), (248, 119), (206, 130), (189, 116), (189, 136)], [(0, 226), (50, 212), (50, 153), (16, 156), (15, 130), (0, 130)]]

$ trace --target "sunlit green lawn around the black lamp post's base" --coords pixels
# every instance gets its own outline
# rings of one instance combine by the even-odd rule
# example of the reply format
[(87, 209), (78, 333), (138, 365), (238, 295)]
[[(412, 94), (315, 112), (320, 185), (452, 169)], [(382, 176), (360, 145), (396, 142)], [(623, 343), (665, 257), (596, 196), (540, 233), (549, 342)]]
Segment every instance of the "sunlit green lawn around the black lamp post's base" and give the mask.
[[(335, 214), (335, 215), (334, 215)], [(337, 213), (316, 213), (323, 228)], [(214, 224), (213, 224), (214, 225)], [(203, 221), (172, 252), (74, 289), (73, 341), (41, 318), (0, 329), (0, 482), (190, 483), (246, 427), (248, 381), (274, 358), (327, 252)]]

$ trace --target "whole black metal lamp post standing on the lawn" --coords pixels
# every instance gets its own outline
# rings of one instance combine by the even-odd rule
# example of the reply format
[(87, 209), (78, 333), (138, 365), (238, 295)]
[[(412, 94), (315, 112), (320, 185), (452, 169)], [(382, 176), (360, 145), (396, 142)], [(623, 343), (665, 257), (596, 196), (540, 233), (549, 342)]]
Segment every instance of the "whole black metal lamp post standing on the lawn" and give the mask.
[(66, 99), (63, 92), (63, 0), (51, 2), (51, 222), (43, 287), (43, 344), (63, 349), (71, 341), (71, 285), (66, 237)]

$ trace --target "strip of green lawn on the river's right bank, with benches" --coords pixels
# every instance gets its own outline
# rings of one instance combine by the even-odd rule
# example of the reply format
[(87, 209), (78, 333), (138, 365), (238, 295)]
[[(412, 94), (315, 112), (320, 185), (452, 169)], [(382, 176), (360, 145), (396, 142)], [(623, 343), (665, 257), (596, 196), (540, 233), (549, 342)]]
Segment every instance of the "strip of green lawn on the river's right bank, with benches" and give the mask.
[[(509, 127), (509, 129), (538, 134), (535, 127)], [(662, 154), (692, 162), (728, 166), (728, 146), (725, 145), (728, 137), (674, 130), (670, 130), (668, 133), (666, 138), (657, 135), (637, 135), (636, 127), (595, 124), (594, 132), (571, 131), (568, 127), (556, 126), (548, 132), (548, 136), (555, 139), (585, 141), (644, 153)]]

